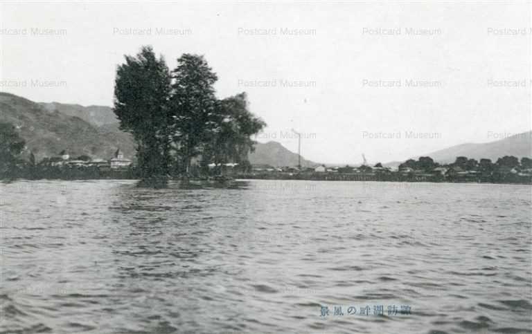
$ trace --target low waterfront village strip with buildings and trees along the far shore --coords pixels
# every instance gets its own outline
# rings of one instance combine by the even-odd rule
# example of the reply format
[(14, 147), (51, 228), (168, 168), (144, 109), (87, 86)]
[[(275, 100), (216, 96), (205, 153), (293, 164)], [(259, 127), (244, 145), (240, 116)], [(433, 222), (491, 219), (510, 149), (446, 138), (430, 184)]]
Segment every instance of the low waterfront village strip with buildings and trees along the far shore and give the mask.
[[(64, 150), (59, 156), (45, 158), (37, 165), (37, 174), (59, 178), (136, 178), (134, 161), (116, 149), (109, 160), (78, 156), (71, 158)], [(49, 167), (49, 168), (48, 168)], [(207, 166), (206, 166), (207, 167)], [(205, 167), (205, 168), (206, 168)], [(229, 178), (293, 179), (293, 180), (384, 180), (407, 182), (473, 182), (473, 183), (532, 183), (532, 159), (504, 156), (495, 163), (490, 159), (456, 157), (454, 163), (440, 165), (430, 157), (409, 159), (398, 167), (373, 166), (364, 162), (358, 167), (314, 165), (272, 166), (250, 163), (222, 163), (202, 169), (195, 160), (190, 176), (202, 178), (226, 176)]]

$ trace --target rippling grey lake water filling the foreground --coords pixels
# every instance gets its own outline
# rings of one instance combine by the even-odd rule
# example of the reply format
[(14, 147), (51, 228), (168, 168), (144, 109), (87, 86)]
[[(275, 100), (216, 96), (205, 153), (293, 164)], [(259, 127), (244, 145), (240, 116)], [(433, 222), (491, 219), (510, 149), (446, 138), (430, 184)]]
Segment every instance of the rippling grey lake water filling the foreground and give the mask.
[(526, 185), (17, 181), (0, 246), (0, 333), (532, 333)]

